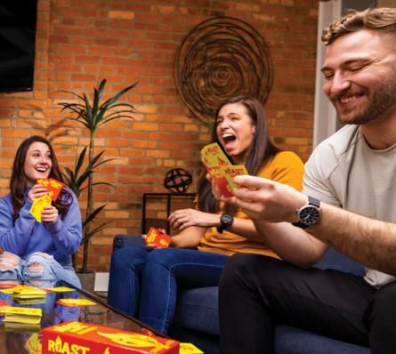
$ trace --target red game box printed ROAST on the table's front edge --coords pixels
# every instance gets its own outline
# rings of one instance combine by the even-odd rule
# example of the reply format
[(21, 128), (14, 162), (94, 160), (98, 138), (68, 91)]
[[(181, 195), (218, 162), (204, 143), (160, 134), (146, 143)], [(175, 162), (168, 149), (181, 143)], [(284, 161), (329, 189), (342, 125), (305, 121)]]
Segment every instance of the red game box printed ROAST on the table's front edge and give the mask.
[(42, 334), (43, 354), (179, 354), (179, 342), (172, 339), (84, 322), (63, 322)]

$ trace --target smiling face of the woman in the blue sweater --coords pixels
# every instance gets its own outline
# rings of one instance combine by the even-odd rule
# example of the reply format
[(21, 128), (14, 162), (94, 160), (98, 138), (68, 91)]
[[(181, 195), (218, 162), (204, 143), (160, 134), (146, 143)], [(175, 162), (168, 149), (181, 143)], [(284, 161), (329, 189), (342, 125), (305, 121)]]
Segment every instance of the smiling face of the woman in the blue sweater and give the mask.
[(36, 141), (28, 147), (23, 171), (28, 184), (36, 184), (39, 178), (48, 178), (53, 167), (51, 150), (44, 142)]

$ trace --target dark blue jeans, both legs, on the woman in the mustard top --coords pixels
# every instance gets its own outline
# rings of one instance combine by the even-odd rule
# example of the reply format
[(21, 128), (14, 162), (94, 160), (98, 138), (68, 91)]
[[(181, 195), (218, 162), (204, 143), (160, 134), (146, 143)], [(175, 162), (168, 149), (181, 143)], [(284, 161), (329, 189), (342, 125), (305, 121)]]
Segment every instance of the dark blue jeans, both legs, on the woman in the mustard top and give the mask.
[(120, 248), (111, 257), (109, 304), (166, 334), (178, 290), (217, 286), (228, 258), (181, 248)]

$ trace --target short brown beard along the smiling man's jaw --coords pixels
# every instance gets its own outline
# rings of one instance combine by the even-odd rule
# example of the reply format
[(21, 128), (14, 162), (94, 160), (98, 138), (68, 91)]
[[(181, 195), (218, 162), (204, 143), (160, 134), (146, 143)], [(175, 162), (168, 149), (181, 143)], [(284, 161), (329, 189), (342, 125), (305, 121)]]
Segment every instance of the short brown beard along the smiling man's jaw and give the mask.
[[(366, 94), (368, 92), (366, 91)], [(343, 115), (337, 116), (346, 125), (365, 125), (375, 120), (380, 120), (384, 112), (396, 105), (396, 72), (373, 94), (368, 103), (368, 107), (358, 111), (351, 118), (343, 119)]]

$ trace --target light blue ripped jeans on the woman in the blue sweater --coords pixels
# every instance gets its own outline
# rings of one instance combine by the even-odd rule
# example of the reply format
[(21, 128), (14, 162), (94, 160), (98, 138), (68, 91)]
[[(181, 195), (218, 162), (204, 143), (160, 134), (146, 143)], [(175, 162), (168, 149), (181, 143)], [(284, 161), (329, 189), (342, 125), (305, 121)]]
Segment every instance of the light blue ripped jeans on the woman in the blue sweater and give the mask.
[(0, 279), (24, 280), (33, 286), (51, 287), (58, 280), (65, 280), (72, 286), (81, 287), (73, 267), (62, 266), (47, 253), (35, 252), (26, 260), (14, 253), (4, 252), (0, 255)]

